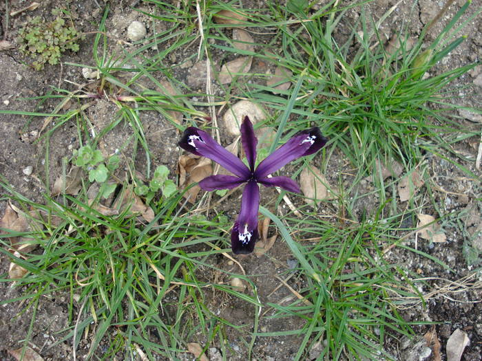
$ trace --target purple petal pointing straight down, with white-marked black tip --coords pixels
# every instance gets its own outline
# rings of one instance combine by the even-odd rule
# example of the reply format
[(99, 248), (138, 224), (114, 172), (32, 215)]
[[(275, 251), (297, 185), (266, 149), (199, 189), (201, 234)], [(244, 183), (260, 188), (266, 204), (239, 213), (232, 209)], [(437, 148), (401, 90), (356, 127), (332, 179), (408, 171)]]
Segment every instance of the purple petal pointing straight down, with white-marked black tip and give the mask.
[(249, 254), (258, 239), (258, 208), (260, 188), (255, 181), (248, 182), (241, 198), (241, 211), (231, 231), (231, 249), (234, 254)]

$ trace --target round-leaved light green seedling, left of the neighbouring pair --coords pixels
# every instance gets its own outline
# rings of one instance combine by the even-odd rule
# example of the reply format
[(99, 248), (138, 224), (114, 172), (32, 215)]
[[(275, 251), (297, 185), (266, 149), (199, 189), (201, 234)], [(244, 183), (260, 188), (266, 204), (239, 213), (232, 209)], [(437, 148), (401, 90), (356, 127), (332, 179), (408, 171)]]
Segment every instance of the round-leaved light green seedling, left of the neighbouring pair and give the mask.
[(89, 173), (89, 181), (98, 183), (104, 183), (109, 172), (112, 173), (120, 161), (119, 156), (114, 154), (109, 157), (106, 166), (101, 151), (92, 149), (90, 145), (82, 146), (78, 151), (74, 151), (74, 156), (76, 157), (75, 165)]

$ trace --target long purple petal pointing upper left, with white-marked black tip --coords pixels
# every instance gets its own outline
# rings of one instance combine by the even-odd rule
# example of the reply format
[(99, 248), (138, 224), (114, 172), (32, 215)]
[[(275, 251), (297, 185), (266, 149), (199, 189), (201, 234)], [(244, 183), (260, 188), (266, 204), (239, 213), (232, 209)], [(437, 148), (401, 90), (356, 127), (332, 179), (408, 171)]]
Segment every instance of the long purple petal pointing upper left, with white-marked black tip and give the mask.
[(216, 140), (213, 140), (211, 135), (201, 129), (186, 128), (178, 144), (188, 152), (213, 160), (242, 179), (247, 179), (250, 175), (249, 169), (238, 157), (229, 153)]

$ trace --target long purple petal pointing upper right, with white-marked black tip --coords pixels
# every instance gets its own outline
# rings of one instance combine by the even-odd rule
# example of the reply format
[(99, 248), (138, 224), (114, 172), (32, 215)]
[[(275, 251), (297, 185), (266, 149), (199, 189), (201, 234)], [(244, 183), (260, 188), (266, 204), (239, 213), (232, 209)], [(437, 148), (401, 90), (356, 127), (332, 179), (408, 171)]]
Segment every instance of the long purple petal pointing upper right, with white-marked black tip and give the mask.
[(258, 165), (255, 178), (262, 179), (299, 157), (319, 151), (327, 141), (318, 128), (300, 131)]

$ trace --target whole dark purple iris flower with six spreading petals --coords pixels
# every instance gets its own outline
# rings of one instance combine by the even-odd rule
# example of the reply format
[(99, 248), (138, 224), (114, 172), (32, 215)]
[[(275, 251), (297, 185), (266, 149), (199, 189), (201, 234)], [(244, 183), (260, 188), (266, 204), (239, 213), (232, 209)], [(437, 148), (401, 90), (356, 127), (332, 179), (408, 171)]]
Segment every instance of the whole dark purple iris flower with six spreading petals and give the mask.
[(232, 189), (246, 183), (241, 198), (241, 211), (231, 231), (231, 249), (234, 254), (249, 254), (258, 239), (258, 208), (260, 188), (277, 186), (293, 193), (300, 193), (300, 187), (289, 177), (268, 177), (282, 166), (304, 155), (313, 154), (326, 144), (318, 128), (300, 131), (285, 144), (266, 157), (255, 168), (256, 139), (253, 124), (248, 117), (241, 124), (241, 142), (248, 165), (229, 153), (211, 135), (201, 129), (189, 127), (178, 143), (182, 149), (220, 164), (234, 175), (210, 175), (199, 182), (203, 190)]

